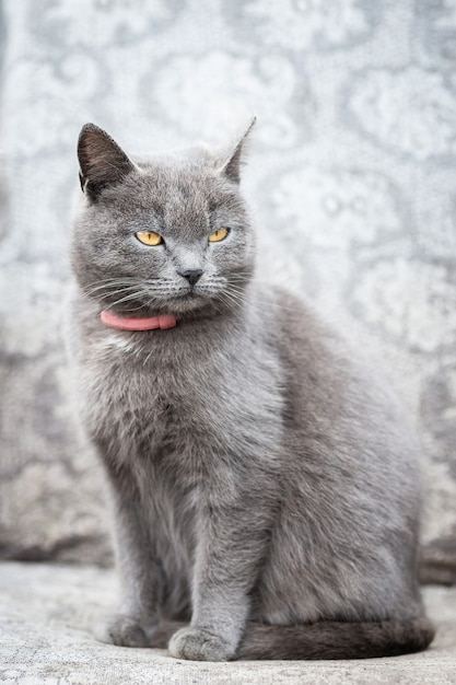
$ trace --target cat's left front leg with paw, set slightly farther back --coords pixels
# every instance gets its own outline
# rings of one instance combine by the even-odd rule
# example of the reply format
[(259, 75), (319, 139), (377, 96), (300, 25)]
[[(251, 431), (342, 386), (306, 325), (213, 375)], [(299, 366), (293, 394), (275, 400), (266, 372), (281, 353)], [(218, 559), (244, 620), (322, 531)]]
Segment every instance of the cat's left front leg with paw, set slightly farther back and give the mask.
[(161, 565), (155, 558), (139, 497), (125, 483), (114, 485), (121, 601), (118, 611), (100, 620), (94, 632), (102, 642), (149, 647), (160, 623)]

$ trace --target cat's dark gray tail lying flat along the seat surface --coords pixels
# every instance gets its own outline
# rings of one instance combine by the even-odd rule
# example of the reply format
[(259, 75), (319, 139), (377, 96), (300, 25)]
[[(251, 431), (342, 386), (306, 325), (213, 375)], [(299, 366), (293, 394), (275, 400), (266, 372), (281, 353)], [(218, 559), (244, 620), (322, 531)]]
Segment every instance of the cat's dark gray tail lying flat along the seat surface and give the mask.
[(373, 659), (425, 649), (435, 630), (428, 618), (382, 623), (320, 622), (295, 626), (249, 623), (237, 659)]

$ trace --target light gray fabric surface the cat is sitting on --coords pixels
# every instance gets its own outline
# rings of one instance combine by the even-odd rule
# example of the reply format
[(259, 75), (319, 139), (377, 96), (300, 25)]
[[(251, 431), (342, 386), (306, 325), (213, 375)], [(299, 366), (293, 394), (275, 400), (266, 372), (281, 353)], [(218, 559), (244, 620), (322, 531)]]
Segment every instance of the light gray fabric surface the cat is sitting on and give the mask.
[(426, 652), (370, 661), (196, 663), (163, 650), (96, 642), (93, 618), (116, 596), (113, 571), (95, 567), (0, 564), (2, 685), (248, 685), (264, 683), (456, 683), (456, 588), (424, 590), (437, 637)]

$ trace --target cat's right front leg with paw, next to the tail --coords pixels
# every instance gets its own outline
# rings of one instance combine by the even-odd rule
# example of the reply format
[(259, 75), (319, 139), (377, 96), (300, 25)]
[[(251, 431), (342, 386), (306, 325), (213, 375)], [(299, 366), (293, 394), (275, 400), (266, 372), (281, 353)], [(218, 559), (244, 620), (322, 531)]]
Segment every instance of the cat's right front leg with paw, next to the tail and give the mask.
[[(233, 659), (250, 612), (252, 591), (268, 543), (269, 513), (259, 501), (211, 507), (196, 550), (190, 626), (171, 639), (173, 657)], [(255, 515), (250, 513), (255, 511)]]

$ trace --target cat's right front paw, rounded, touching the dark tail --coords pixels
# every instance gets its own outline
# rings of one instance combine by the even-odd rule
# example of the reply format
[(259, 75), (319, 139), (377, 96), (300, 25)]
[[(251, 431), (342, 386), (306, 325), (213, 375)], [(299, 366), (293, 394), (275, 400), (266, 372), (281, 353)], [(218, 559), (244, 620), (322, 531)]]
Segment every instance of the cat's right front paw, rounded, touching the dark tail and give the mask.
[(168, 651), (176, 659), (229, 661), (235, 650), (219, 635), (201, 628), (182, 628), (169, 640)]

